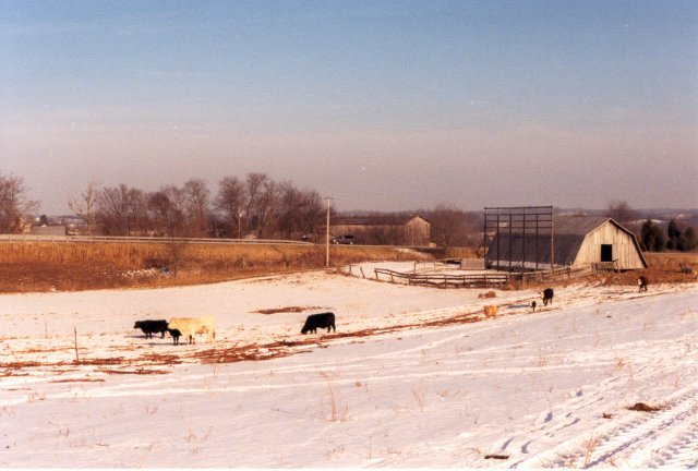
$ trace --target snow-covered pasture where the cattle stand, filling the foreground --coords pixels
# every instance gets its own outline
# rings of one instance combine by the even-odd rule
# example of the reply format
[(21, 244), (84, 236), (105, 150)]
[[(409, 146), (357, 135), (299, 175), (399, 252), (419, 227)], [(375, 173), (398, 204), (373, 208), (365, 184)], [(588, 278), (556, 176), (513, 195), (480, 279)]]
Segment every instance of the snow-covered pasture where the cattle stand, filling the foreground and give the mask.
[[(578, 283), (535, 313), (485, 291), (315, 271), (0, 295), (0, 467), (698, 467), (698, 286)], [(337, 333), (301, 336), (323, 311)], [(203, 315), (215, 345), (132, 328)]]

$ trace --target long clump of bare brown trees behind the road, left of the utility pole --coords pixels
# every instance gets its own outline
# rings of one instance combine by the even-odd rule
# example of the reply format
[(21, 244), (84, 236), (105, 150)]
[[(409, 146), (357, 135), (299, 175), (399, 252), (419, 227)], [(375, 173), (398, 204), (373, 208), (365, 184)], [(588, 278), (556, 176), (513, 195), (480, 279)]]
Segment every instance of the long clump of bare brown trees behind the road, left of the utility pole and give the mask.
[(215, 193), (196, 179), (155, 192), (125, 184), (99, 189), (92, 181), (69, 206), (88, 233), (265, 239), (312, 232), (324, 210), (314, 190), (276, 182), (264, 173), (225, 177)]

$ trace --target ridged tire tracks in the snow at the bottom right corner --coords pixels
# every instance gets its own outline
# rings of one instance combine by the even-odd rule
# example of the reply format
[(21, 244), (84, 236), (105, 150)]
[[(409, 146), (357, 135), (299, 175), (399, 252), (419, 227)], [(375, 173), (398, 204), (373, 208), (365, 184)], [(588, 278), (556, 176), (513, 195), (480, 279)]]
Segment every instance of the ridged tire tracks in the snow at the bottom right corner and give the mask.
[(630, 412), (614, 422), (518, 462), (520, 468), (698, 464), (698, 384), (670, 396), (658, 412)]

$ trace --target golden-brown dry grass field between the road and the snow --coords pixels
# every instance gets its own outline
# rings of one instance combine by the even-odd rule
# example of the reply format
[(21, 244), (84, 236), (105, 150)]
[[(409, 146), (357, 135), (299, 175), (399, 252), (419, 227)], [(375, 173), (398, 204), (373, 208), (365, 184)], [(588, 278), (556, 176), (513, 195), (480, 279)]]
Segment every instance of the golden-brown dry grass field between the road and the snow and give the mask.
[[(329, 256), (333, 266), (424, 257), (364, 246), (332, 246)], [(181, 286), (324, 266), (320, 245), (3, 242), (0, 292)]]

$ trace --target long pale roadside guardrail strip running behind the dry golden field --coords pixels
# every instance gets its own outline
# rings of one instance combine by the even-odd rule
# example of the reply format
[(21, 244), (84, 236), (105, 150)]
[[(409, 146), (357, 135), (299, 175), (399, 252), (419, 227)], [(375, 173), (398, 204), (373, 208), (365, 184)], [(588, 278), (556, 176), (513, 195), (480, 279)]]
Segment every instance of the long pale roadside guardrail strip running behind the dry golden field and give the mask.
[(156, 237), (111, 237), (111, 235), (36, 235), (36, 234), (0, 234), (0, 242), (81, 242), (81, 243), (192, 243), (217, 245), (315, 245), (312, 242), (273, 240), (273, 239), (205, 239), (205, 238), (156, 238)]

